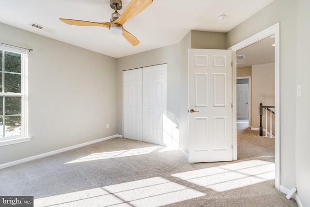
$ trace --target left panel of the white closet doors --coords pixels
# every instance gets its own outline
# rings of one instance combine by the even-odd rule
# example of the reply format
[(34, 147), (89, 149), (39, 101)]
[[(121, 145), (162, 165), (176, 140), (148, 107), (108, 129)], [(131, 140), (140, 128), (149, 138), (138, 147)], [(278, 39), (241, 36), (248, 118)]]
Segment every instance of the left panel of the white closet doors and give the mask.
[(124, 81), (124, 137), (142, 141), (142, 68), (126, 70)]

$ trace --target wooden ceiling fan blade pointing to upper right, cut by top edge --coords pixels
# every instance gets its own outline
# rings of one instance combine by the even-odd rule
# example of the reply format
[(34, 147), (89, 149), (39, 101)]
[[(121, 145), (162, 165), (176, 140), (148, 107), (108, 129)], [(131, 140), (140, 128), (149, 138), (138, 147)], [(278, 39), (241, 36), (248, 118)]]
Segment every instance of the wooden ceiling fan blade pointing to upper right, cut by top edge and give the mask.
[(124, 23), (126, 23), (126, 21), (128, 21), (132, 17), (142, 12), (151, 3), (153, 3), (153, 0), (132, 0), (130, 1), (130, 3), (126, 6), (121, 16), (118, 19), (116, 19), (114, 22), (116, 24), (123, 25)]

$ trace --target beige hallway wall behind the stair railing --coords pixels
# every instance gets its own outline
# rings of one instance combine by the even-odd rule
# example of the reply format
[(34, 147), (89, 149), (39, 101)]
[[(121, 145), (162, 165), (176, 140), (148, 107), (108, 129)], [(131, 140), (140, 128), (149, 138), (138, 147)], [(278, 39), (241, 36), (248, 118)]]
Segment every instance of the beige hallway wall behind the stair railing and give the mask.
[[(275, 64), (252, 65), (251, 78), (251, 127), (260, 127), (260, 103), (263, 106), (275, 106)], [(273, 110), (274, 111), (274, 110)], [(274, 117), (273, 134), (274, 134)], [(268, 132), (270, 132), (270, 116), (267, 112)], [(266, 127), (265, 112), (263, 110), (263, 128)]]

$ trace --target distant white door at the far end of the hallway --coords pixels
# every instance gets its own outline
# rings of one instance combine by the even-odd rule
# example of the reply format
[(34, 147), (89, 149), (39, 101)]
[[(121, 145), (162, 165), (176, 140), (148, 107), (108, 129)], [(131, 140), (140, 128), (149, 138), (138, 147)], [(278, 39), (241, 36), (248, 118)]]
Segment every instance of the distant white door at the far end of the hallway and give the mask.
[(237, 119), (248, 119), (248, 84), (237, 84)]

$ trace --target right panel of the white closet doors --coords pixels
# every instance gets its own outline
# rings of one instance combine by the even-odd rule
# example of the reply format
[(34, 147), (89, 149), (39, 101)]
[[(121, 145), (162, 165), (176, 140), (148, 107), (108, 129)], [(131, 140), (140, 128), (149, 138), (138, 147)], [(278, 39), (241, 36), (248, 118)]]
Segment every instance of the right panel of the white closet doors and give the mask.
[(163, 145), (167, 109), (167, 65), (143, 67), (143, 142)]

